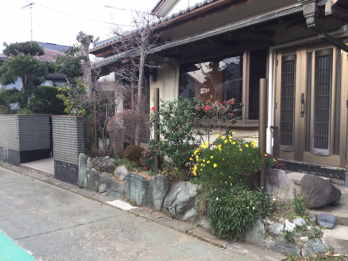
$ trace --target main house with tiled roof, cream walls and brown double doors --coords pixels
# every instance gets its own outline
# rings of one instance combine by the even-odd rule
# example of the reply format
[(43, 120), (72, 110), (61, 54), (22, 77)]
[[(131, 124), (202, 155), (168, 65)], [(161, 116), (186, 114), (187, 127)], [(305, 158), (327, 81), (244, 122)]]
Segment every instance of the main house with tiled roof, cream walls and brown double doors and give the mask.
[[(160, 0), (152, 10), (164, 17), (157, 32), (169, 44), (151, 57), (162, 68), (156, 82), (147, 82), (150, 96), (155, 87), (164, 101), (211, 92), (211, 82), (197, 69), (200, 62), (219, 86), (215, 98), (237, 96), (244, 103), (247, 119), (232, 126), (236, 134), (257, 135), (259, 79), (267, 78), (267, 151), (270, 126), (277, 126), (274, 154), (287, 160), (288, 169), (344, 179), (348, 1), (205, 0), (172, 11), (183, 2)], [(116, 41), (95, 42), (90, 50), (104, 58), (95, 63), (104, 75), (122, 61), (113, 53)], [(205, 87), (185, 89), (184, 82)]]

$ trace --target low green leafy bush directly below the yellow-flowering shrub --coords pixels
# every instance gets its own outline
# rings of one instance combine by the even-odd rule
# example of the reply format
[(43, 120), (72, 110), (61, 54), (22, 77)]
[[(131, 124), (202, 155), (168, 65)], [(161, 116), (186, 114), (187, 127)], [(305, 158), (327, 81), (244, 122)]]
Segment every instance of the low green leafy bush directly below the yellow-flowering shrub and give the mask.
[(245, 183), (221, 183), (207, 194), (207, 203), (212, 232), (231, 240), (243, 236), (261, 212), (269, 214), (272, 209), (267, 192), (250, 190)]

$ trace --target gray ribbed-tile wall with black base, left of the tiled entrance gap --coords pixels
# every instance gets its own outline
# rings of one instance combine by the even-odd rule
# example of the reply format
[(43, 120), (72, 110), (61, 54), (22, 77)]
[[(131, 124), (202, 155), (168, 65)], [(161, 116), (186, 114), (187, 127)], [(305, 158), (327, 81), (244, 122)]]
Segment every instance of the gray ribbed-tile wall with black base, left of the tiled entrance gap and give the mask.
[(48, 114), (0, 114), (0, 160), (21, 163), (50, 157)]

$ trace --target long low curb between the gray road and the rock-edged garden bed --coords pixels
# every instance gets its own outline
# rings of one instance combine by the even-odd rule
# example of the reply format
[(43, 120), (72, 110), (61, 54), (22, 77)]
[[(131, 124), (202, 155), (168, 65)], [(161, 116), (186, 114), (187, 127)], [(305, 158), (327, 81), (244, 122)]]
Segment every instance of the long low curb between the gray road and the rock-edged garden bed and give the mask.
[[(29, 171), (26, 169), (22, 169), (20, 167), (16, 167), (13, 165), (10, 165), (8, 163), (0, 163), (0, 168), (6, 168), (13, 172), (22, 174), (27, 177), (31, 177), (33, 179), (48, 183), (50, 185), (54, 185), (58, 188), (62, 188), (64, 190), (76, 193), (78, 195), (81, 195), (83, 197), (95, 200), (99, 203), (106, 204), (110, 207), (117, 208), (121, 211), (124, 211), (126, 213), (138, 215), (142, 217), (143, 219), (146, 219), (148, 221), (155, 222), (157, 224), (160, 224), (161, 226), (179, 231), (183, 234), (190, 235), (192, 237), (196, 237), (200, 240), (206, 241), (208, 243), (211, 243), (216, 246), (221, 246), (229, 251), (235, 252), (237, 254), (244, 255), (248, 258), (253, 258), (254, 260), (264, 260), (264, 261), (277, 261), (277, 260), (283, 260), (285, 258), (284, 255), (281, 255), (277, 252), (270, 251), (270, 250), (264, 250), (263, 248), (260, 248), (255, 245), (250, 245), (244, 242), (236, 242), (236, 243), (230, 243), (227, 241), (224, 241), (222, 239), (217, 238), (215, 235), (213, 235), (211, 232), (207, 232), (204, 230), (201, 230), (199, 228), (195, 228), (193, 225), (190, 226), (186, 222), (182, 222), (176, 219), (169, 219), (166, 214), (153, 211), (150, 208), (147, 207), (132, 207), (128, 203), (122, 201), (122, 200), (115, 200), (114, 198), (111, 198), (109, 196), (100, 194), (98, 192), (93, 192), (87, 189), (81, 189), (76, 185), (72, 185), (70, 183), (66, 183), (60, 180), (56, 180), (53, 178), (50, 178), (48, 176)], [(114, 201), (118, 201), (114, 203)], [(121, 202), (119, 202), (121, 201)], [(121, 203), (121, 204), (119, 204)], [(123, 206), (122, 206), (123, 205)], [(127, 205), (125, 207), (125, 205)], [(129, 205), (129, 206), (128, 206)], [(243, 251), (241, 251), (241, 249)], [(262, 258), (256, 258), (256, 256), (261, 256)]]

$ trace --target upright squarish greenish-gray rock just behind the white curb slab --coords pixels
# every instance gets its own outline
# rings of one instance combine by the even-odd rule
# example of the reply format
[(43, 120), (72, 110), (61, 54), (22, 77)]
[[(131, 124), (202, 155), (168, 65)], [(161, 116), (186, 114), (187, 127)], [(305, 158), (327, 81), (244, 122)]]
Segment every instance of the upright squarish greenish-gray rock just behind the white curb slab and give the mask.
[(125, 195), (138, 206), (148, 205), (149, 180), (135, 174), (128, 173), (125, 177)]

